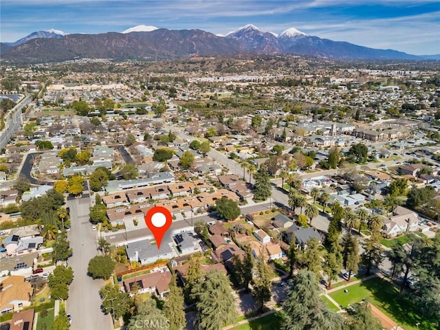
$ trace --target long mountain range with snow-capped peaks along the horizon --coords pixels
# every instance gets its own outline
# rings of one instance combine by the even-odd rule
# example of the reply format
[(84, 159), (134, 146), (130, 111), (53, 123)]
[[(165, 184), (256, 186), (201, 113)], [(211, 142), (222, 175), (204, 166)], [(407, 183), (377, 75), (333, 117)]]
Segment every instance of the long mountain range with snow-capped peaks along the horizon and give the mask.
[(281, 34), (245, 25), (225, 36), (203, 30), (168, 30), (137, 25), (122, 33), (65, 34), (33, 32), (14, 43), (1, 43), (2, 61), (47, 63), (79, 58), (176, 59), (191, 56), (239, 54), (300, 54), (331, 59), (436, 60), (440, 54), (416, 56), (396, 50), (377, 50), (344, 41), (332, 41), (289, 28)]

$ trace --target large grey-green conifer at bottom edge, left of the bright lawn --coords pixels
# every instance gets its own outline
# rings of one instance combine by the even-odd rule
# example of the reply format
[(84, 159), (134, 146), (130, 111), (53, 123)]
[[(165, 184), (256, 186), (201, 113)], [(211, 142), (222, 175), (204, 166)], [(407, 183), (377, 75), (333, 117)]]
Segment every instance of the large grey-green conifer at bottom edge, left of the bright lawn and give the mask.
[(284, 330), (343, 329), (342, 318), (320, 298), (316, 274), (300, 270), (291, 286), (283, 305)]

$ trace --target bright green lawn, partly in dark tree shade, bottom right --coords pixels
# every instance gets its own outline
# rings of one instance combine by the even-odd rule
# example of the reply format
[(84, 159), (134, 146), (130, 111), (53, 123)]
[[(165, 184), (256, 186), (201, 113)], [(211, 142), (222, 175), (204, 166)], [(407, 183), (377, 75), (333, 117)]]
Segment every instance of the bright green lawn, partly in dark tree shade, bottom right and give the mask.
[(399, 296), (397, 287), (382, 278), (372, 278), (369, 281), (351, 285), (346, 289), (349, 290), (348, 293), (345, 293), (344, 289), (340, 289), (332, 292), (329, 296), (344, 308), (360, 303), (364, 298), (369, 298), (373, 305), (404, 327), (405, 330), (416, 330), (417, 322), (420, 322), (419, 329), (436, 329), (432, 323), (416, 314), (415, 307)]

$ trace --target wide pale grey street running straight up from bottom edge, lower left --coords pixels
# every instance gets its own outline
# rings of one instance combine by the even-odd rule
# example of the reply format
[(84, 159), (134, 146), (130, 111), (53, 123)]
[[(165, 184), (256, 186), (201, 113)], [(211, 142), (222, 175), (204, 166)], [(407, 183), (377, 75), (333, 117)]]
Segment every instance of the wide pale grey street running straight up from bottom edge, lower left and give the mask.
[(111, 317), (100, 311), (101, 299), (99, 289), (104, 285), (102, 280), (93, 280), (87, 276), (89, 260), (97, 254), (96, 232), (91, 230), (89, 222), (90, 197), (69, 197), (67, 207), (70, 208), (71, 230), (68, 233), (73, 256), (69, 266), (74, 270), (74, 281), (69, 288), (67, 313), (72, 314), (72, 330), (112, 329)]

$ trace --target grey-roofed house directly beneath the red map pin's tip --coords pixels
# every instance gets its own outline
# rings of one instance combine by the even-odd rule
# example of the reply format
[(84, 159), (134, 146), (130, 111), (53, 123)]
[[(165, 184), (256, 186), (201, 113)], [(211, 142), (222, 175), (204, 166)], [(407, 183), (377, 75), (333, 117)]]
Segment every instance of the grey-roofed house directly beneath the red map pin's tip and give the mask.
[(160, 249), (158, 249), (157, 245), (152, 245), (149, 239), (128, 243), (125, 245), (125, 252), (131, 262), (136, 261), (142, 265), (154, 263), (159, 259), (171, 259), (176, 256), (169, 242), (163, 241)]

